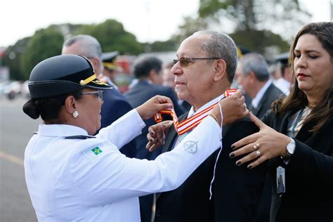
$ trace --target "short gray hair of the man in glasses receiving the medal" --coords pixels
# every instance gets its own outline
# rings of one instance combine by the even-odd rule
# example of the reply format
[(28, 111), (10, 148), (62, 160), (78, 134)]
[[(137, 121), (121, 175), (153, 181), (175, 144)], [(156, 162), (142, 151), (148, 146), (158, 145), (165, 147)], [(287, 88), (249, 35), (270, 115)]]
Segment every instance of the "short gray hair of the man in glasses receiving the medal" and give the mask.
[(226, 61), (227, 77), (230, 82), (235, 77), (237, 68), (237, 48), (236, 44), (228, 34), (214, 31), (199, 31), (195, 34), (209, 34), (210, 38), (202, 43), (202, 51), (206, 52), (209, 57), (222, 58)]

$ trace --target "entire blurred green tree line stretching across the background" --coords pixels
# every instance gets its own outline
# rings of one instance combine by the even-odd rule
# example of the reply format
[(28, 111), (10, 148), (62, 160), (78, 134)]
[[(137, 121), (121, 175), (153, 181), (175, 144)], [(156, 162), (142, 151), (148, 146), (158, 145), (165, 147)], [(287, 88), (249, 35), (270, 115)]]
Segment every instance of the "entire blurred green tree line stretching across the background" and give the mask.
[(93, 25), (51, 25), (9, 46), (3, 63), (10, 67), (11, 79), (25, 80), (41, 60), (59, 55), (63, 41), (72, 35), (96, 37), (105, 52), (138, 55), (176, 51), (181, 41), (197, 30), (228, 33), (238, 46), (270, 58), (289, 49), (288, 41), (309, 18), (298, 0), (200, 0), (197, 17), (184, 18), (178, 32), (167, 41), (140, 43), (122, 23), (112, 19)]

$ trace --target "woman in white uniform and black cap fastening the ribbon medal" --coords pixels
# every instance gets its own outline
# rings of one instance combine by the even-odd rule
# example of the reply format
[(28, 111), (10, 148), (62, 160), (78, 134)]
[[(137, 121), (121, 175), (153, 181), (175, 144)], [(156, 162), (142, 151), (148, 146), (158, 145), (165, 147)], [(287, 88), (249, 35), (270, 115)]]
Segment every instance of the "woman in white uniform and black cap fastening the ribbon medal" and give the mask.
[(248, 113), (237, 92), (220, 102), (223, 119), (216, 106), (171, 152), (154, 161), (130, 159), (119, 148), (171, 100), (156, 96), (91, 136), (100, 128), (103, 90), (110, 88), (79, 55), (48, 58), (32, 70), (32, 98), (23, 110), (44, 124), (25, 150), (25, 179), (39, 221), (140, 221), (138, 197), (181, 185), (220, 147), (221, 120)]

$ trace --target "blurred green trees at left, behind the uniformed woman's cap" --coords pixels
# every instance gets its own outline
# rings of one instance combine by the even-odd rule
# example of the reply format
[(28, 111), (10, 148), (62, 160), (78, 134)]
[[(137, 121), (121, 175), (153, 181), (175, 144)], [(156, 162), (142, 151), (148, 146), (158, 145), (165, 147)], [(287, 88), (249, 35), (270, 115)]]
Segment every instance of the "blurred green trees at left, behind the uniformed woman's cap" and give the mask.
[(29, 79), (30, 72), (37, 63), (60, 55), (65, 39), (76, 34), (96, 37), (103, 51), (119, 51), (131, 55), (143, 52), (143, 44), (133, 34), (126, 32), (122, 23), (116, 20), (106, 20), (97, 25), (50, 25), (6, 49), (3, 63), (10, 68), (11, 79)]

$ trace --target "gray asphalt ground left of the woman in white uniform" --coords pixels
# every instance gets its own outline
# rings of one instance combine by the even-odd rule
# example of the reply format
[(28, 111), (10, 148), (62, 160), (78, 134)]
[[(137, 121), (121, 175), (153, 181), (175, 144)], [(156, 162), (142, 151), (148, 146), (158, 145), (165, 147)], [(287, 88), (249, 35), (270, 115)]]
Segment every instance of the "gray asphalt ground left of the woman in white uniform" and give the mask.
[(37, 221), (25, 185), (23, 157), (41, 120), (25, 115), (26, 100), (0, 98), (0, 221)]

